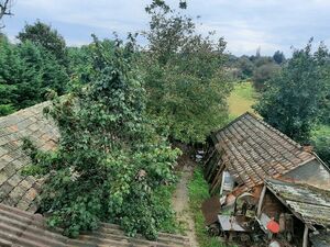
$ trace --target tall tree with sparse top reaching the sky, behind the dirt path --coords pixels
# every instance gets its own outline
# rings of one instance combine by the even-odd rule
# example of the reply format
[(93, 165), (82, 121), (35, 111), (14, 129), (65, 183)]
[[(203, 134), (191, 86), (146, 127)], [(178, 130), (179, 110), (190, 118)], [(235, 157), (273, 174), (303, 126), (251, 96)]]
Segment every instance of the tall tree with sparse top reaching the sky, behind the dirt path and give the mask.
[[(186, 7), (182, 1), (180, 10)], [(174, 139), (204, 142), (227, 120), (226, 42), (201, 36), (189, 16), (162, 0), (153, 1), (146, 12), (151, 22), (142, 69), (148, 113)]]

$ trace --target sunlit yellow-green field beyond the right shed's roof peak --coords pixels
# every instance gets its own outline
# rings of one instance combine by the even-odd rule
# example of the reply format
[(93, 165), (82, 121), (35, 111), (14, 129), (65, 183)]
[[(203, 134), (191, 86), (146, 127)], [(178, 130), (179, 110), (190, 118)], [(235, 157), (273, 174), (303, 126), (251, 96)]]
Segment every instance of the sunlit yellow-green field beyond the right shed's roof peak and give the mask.
[(252, 105), (256, 101), (257, 93), (251, 82), (235, 83), (234, 89), (228, 99), (231, 119), (237, 117), (246, 111), (254, 112)]

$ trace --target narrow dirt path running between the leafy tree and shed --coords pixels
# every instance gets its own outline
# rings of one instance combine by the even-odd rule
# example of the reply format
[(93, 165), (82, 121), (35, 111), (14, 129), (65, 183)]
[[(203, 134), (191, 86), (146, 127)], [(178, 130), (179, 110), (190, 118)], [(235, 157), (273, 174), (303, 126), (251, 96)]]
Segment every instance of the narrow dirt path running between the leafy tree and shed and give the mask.
[(186, 233), (189, 238), (191, 247), (197, 247), (195, 223), (189, 211), (189, 197), (188, 197), (188, 181), (193, 176), (194, 161), (191, 159), (183, 159), (182, 178), (177, 184), (173, 198), (173, 209), (177, 214), (178, 221), (183, 222), (186, 226)]

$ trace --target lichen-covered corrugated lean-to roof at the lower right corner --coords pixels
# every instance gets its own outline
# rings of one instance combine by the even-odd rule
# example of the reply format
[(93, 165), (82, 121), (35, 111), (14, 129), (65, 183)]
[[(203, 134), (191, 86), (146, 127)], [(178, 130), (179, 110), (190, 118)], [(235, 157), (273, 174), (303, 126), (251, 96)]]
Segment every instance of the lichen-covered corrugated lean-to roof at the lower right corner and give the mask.
[(330, 191), (275, 179), (266, 186), (306, 224), (330, 226)]

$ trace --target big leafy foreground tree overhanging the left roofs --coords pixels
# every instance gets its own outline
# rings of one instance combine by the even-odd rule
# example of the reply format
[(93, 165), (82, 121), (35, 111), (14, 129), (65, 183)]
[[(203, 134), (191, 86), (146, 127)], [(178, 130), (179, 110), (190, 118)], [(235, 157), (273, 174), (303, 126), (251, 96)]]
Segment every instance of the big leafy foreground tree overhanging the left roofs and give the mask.
[(155, 238), (172, 215), (156, 191), (174, 181), (177, 150), (155, 133), (145, 116), (145, 90), (136, 69), (133, 40), (112, 48), (95, 38), (95, 80), (55, 98), (46, 112), (57, 123), (55, 151), (42, 153), (29, 141), (29, 171), (46, 177), (42, 212), (50, 224), (76, 236), (100, 221), (128, 234)]

